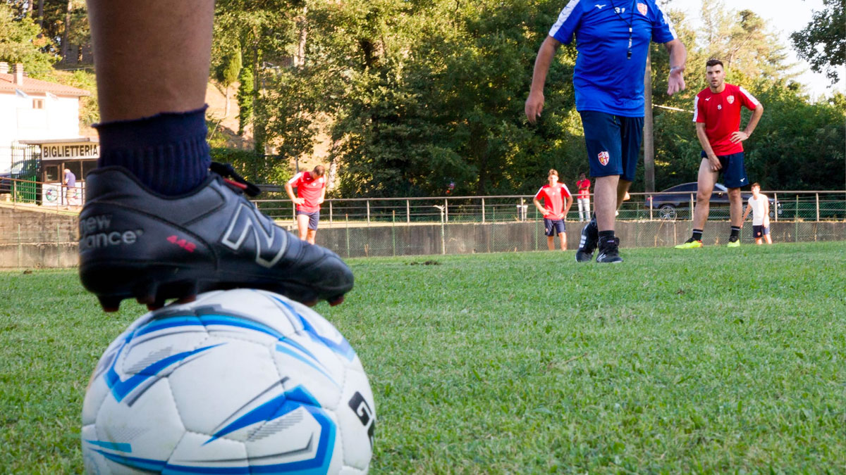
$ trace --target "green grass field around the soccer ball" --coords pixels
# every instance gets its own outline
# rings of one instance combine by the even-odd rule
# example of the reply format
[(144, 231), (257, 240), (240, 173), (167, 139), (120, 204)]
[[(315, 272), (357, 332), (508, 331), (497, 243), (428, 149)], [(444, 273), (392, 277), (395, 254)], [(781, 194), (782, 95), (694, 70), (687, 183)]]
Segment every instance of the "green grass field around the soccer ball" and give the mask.
[[(370, 375), (372, 472), (846, 472), (846, 243), (624, 258), (351, 260), (316, 309)], [(0, 472), (80, 472), (85, 384), (142, 309), (74, 271), (0, 298)]]

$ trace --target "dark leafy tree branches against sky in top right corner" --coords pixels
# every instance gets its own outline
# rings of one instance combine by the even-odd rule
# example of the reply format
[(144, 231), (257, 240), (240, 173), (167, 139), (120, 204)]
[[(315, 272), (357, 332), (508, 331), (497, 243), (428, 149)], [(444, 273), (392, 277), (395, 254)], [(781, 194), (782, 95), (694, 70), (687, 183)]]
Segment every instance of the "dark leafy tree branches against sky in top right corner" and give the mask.
[(790, 35), (799, 57), (817, 73), (825, 70), (832, 84), (837, 83), (838, 66), (846, 64), (846, 0), (823, 0), (825, 9), (814, 12), (805, 29)]

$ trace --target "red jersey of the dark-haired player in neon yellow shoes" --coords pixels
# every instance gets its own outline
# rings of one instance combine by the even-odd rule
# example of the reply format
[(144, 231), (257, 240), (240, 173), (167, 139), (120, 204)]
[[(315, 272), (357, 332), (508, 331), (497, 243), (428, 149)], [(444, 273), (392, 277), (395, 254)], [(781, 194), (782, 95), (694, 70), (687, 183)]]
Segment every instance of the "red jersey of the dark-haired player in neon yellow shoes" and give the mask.
[(706, 87), (696, 95), (693, 121), (705, 123), (705, 134), (714, 155), (732, 155), (743, 151), (743, 142), (732, 143), (732, 134), (740, 130), (740, 107), (755, 110), (761, 102), (739, 85), (723, 83), (722, 92)]

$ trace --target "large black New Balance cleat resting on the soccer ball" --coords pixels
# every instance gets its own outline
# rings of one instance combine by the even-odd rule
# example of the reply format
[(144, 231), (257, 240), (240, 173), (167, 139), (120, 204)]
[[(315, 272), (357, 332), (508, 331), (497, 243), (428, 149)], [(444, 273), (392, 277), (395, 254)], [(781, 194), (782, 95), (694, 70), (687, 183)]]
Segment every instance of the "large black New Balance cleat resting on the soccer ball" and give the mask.
[(259, 189), (227, 165), (212, 163), (200, 187), (177, 197), (152, 192), (122, 167), (98, 168), (85, 185), (80, 280), (107, 312), (124, 298), (153, 309), (235, 287), (336, 305), (353, 288), (337, 254), (277, 227), (244, 197)]

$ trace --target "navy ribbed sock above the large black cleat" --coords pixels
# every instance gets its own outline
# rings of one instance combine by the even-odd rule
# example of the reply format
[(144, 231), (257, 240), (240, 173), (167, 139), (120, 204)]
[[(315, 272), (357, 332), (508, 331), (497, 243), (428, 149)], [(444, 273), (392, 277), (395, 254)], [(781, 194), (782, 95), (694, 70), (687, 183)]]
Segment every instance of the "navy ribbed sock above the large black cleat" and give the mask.
[(124, 167), (159, 194), (188, 193), (208, 176), (206, 106), (94, 127), (100, 134), (97, 166)]

